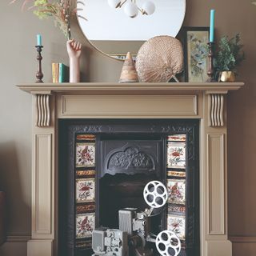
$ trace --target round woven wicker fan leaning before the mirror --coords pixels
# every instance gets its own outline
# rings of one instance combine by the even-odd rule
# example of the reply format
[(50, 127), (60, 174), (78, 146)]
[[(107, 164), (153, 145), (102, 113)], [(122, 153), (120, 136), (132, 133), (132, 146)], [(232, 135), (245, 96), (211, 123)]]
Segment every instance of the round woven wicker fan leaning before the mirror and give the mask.
[(183, 70), (182, 43), (170, 36), (151, 38), (138, 50), (136, 70), (140, 82), (170, 81)]

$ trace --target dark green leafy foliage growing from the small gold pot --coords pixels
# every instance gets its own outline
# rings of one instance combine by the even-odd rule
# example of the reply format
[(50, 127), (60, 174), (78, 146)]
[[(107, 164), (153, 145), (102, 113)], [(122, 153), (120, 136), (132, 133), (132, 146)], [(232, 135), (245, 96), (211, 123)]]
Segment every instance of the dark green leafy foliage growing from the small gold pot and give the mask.
[(214, 58), (214, 68), (216, 71), (234, 71), (236, 67), (245, 59), (242, 51), (243, 45), (240, 44), (240, 34), (234, 38), (223, 36), (218, 42), (218, 50)]

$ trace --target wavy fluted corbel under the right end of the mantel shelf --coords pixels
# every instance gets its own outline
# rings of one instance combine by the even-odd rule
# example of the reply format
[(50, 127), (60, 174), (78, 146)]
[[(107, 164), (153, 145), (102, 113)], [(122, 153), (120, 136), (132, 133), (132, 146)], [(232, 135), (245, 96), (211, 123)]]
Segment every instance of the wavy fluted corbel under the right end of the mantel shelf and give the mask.
[(227, 90), (207, 90), (208, 94), (208, 125), (211, 127), (224, 126), (224, 95)]

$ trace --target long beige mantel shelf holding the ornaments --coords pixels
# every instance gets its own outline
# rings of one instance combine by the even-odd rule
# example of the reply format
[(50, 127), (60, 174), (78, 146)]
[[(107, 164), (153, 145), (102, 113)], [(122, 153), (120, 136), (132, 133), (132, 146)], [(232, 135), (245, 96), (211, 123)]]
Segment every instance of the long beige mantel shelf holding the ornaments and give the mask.
[(179, 82), (179, 83), (117, 83), (117, 82), (80, 82), (80, 83), (26, 83), (18, 88), (28, 93), (37, 94), (44, 91), (50, 93), (85, 94), (172, 94), (178, 92), (218, 91), (227, 92), (238, 90), (244, 86), (243, 82)]

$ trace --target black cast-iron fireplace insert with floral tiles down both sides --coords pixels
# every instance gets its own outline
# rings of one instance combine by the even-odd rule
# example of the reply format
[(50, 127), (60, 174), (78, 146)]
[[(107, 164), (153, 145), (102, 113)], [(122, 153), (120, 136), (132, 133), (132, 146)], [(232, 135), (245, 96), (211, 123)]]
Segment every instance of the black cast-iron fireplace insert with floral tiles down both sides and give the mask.
[(150, 208), (143, 190), (154, 180), (168, 202), (150, 232), (173, 230), (179, 255), (200, 254), (199, 120), (59, 119), (58, 130), (58, 255), (91, 255), (92, 230), (118, 229), (123, 208)]

